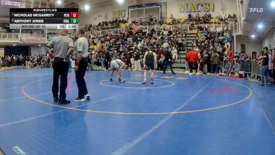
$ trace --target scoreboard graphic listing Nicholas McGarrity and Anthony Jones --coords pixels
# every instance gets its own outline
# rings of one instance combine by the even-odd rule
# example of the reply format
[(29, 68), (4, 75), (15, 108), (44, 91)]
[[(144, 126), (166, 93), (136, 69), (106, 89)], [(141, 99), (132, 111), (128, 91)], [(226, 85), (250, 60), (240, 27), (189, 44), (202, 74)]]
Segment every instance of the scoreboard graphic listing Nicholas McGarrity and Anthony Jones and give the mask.
[(77, 29), (78, 8), (10, 8), (10, 29)]

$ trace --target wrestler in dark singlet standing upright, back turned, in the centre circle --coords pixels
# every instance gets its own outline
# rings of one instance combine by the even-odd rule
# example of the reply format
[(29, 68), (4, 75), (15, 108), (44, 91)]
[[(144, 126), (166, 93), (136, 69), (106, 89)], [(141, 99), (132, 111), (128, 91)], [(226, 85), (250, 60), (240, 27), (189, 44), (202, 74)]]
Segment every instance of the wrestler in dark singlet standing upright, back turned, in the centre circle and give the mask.
[(153, 52), (153, 46), (149, 47), (149, 51), (144, 54), (144, 81), (143, 85), (147, 83), (147, 73), (151, 70), (151, 84), (154, 84), (154, 70), (157, 69), (157, 54)]

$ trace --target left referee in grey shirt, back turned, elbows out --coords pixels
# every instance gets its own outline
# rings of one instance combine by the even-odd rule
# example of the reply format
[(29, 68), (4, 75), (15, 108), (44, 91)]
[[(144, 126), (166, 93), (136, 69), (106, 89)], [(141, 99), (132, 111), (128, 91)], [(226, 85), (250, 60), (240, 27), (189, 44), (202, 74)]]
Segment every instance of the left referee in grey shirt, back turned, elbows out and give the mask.
[[(54, 62), (52, 63), (52, 67), (54, 68), (54, 80), (52, 83), (54, 102), (61, 104), (70, 103), (70, 101), (66, 100), (69, 62), (65, 62), (64, 59), (67, 59), (74, 52), (74, 43), (71, 38), (67, 37), (67, 34), (68, 30), (61, 30), (61, 35), (54, 37), (46, 46), (51, 59), (54, 58)], [(59, 77), (61, 78), (60, 88), (58, 88)], [(59, 99), (58, 89), (60, 90)]]

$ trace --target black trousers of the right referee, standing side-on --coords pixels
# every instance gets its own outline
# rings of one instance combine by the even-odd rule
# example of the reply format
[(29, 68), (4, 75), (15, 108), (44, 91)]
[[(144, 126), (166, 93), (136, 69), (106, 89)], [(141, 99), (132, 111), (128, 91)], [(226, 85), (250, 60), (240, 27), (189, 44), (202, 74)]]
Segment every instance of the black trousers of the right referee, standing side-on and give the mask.
[(87, 70), (88, 59), (82, 58), (78, 65), (78, 71), (76, 71), (76, 84), (78, 85), (78, 98), (84, 99), (85, 94), (88, 94), (86, 82), (84, 79), (85, 72)]

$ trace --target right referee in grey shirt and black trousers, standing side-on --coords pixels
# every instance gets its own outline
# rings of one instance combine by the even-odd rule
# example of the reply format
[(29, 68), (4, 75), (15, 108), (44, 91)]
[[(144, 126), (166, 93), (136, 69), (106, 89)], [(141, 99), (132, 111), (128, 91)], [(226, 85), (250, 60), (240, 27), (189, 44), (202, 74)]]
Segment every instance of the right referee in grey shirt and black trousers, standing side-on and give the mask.
[(83, 26), (80, 26), (76, 30), (76, 37), (78, 38), (78, 40), (74, 44), (74, 56), (76, 56), (74, 70), (76, 71), (78, 98), (74, 99), (74, 101), (85, 101), (86, 99), (90, 99), (84, 79), (88, 65), (89, 42), (85, 38), (85, 29)]

